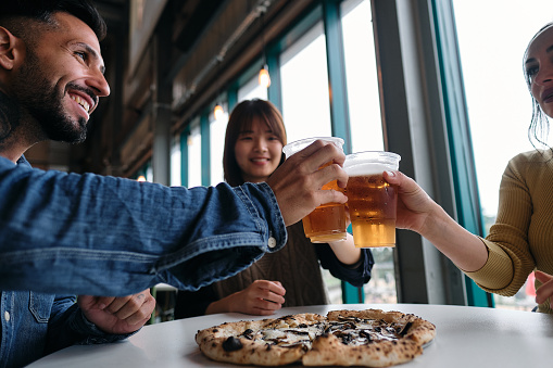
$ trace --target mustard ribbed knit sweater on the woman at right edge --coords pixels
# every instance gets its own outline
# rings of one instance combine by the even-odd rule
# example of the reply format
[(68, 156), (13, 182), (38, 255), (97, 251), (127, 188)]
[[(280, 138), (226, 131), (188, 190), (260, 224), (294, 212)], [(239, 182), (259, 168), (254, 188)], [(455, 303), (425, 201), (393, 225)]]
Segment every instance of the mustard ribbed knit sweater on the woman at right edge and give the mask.
[[(466, 275), (486, 291), (512, 296), (535, 269), (553, 275), (551, 150), (520, 153), (508, 162), (500, 186), (498, 217), (482, 241), (488, 262)], [(539, 310), (553, 313), (549, 300)]]

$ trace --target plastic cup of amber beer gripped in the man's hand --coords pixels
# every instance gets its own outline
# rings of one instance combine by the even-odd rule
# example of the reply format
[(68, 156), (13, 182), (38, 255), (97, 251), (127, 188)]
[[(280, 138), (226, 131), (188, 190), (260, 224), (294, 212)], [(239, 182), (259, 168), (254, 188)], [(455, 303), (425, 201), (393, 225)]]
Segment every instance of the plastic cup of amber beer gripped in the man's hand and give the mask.
[[(340, 150), (343, 147), (343, 139), (337, 137), (306, 138), (291, 142), (282, 148), (286, 157), (303, 150), (316, 140), (331, 142)], [(321, 168), (330, 165), (331, 162), (321, 166)], [(336, 180), (323, 186), (323, 189), (343, 191), (338, 187)], [(303, 218), (303, 231), (305, 237), (310, 238), (312, 243), (328, 243), (347, 239), (345, 231), (345, 207), (340, 203), (327, 203), (316, 207), (311, 214)]]

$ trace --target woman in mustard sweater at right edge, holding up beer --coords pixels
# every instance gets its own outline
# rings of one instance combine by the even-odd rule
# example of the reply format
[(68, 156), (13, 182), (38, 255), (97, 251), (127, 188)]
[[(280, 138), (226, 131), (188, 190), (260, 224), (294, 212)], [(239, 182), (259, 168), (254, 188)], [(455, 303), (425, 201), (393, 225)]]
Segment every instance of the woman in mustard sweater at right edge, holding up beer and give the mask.
[[(530, 131), (546, 131), (553, 117), (553, 23), (530, 41), (524, 58), (533, 100)], [(542, 130), (542, 128), (544, 128)], [(536, 270), (538, 310), (552, 313), (553, 294), (553, 150), (518, 154), (505, 168), (495, 224), (486, 239), (453, 220), (411, 178), (386, 173), (399, 186), (397, 226), (428, 239), (486, 291), (512, 296)]]

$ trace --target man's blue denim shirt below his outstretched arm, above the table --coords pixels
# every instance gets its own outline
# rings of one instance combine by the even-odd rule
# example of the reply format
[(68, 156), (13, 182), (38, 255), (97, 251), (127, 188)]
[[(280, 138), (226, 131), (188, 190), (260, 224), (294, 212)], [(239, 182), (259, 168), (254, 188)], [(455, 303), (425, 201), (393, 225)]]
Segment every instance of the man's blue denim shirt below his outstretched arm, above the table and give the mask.
[(130, 334), (106, 334), (88, 321), (75, 295), (33, 291), (0, 293), (0, 368), (23, 367), (73, 344), (97, 344)]

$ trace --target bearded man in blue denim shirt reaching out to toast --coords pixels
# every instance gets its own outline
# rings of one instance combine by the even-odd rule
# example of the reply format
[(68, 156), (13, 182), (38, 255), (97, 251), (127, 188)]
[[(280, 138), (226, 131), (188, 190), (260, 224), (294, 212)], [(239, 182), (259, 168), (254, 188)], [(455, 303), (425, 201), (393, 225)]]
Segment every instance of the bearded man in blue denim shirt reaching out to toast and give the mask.
[(230, 277), (281, 249), (286, 226), (347, 200), (322, 189), (348, 176), (343, 153), (321, 141), (267, 182), (237, 188), (32, 168), (28, 148), (83, 141), (109, 96), (104, 35), (87, 0), (0, 2), (0, 367), (126, 338), (154, 308), (150, 287), (197, 290)]

